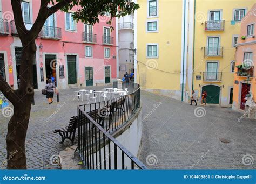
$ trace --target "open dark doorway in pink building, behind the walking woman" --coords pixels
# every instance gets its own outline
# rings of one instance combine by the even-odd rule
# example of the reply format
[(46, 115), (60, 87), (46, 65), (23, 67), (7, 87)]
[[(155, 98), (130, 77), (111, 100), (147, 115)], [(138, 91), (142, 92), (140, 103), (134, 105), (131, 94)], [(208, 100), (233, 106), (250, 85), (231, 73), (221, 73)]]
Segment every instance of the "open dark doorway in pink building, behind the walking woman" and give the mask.
[(58, 67), (58, 63), (56, 63), (56, 55), (45, 55), (45, 73), (46, 73), (46, 83), (48, 83), (48, 79), (54, 77), (55, 86), (57, 86), (57, 74), (56, 67)]

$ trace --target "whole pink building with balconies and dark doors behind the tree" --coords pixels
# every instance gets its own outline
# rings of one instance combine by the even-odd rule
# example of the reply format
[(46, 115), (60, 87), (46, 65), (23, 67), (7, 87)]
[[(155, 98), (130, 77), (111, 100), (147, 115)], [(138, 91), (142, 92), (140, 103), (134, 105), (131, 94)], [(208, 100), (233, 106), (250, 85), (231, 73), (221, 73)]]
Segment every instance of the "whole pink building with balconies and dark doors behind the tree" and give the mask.
[[(22, 2), (27, 29), (31, 29), (36, 20), (39, 5), (37, 0)], [(112, 83), (117, 78), (116, 19), (113, 19), (112, 31), (106, 24), (110, 19), (107, 13), (99, 16), (100, 22), (94, 26), (76, 23), (71, 15), (72, 11), (56, 12), (46, 20), (36, 39), (35, 89), (44, 88), (51, 75), (58, 88)], [(14, 89), (19, 85), (21, 51), (11, 2), (0, 0), (0, 74)]]

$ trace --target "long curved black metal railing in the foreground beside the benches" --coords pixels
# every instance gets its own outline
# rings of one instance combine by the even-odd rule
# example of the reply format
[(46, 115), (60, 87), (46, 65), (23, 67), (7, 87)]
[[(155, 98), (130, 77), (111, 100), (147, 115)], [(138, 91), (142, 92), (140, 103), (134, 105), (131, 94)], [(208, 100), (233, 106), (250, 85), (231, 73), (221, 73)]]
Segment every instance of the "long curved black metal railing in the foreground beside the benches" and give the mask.
[[(134, 87), (129, 86), (130, 89)], [(111, 136), (111, 132), (127, 123), (139, 108), (140, 87), (137, 87), (125, 96), (78, 107), (77, 150), (87, 169), (146, 169), (142, 162)], [(123, 107), (119, 107), (117, 104), (123, 100)], [(105, 123), (98, 118), (106, 119)]]

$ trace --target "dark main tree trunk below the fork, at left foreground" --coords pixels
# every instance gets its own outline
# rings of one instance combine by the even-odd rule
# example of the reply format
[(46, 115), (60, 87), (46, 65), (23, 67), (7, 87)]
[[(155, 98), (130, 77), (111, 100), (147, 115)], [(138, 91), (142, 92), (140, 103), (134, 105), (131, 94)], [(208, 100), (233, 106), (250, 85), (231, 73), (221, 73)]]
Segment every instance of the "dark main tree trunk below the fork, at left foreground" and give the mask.
[(27, 43), (23, 44), (20, 68), (21, 83), (15, 93), (19, 101), (13, 104), (14, 115), (9, 121), (6, 135), (8, 169), (26, 169), (25, 139), (34, 95), (32, 76), (36, 53), (35, 39)]

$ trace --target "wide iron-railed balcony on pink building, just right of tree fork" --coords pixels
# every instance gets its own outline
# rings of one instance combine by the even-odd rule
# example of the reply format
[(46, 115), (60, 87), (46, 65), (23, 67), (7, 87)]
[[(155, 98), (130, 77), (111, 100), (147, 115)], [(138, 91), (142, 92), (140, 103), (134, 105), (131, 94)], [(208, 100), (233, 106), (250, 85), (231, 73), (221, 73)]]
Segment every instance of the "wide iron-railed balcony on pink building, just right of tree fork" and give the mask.
[(43, 26), (39, 33), (40, 38), (60, 40), (62, 38), (62, 29), (59, 27)]

